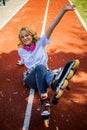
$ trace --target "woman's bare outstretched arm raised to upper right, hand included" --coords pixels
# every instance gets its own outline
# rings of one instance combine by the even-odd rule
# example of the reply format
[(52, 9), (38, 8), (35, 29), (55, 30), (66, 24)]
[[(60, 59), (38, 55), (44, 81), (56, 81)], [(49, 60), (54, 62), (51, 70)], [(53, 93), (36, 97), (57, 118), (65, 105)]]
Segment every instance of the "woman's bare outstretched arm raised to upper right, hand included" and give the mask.
[(45, 32), (47, 38), (50, 37), (51, 33), (53, 32), (54, 28), (56, 27), (56, 25), (59, 23), (59, 21), (63, 17), (64, 13), (67, 11), (70, 11), (70, 10), (74, 10), (74, 9), (75, 9), (74, 5), (71, 5), (71, 6), (65, 5), (64, 6), (64, 8), (59, 13), (59, 15), (53, 20), (53, 22), (50, 24), (47, 31)]

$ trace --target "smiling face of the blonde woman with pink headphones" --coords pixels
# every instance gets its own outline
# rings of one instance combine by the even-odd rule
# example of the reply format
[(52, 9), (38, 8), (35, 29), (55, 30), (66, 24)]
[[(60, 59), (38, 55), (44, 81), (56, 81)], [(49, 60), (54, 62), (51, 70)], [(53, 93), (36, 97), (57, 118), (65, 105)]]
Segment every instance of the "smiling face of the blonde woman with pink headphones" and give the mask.
[(33, 37), (29, 35), (26, 30), (20, 32), (20, 39), (24, 45), (31, 45)]

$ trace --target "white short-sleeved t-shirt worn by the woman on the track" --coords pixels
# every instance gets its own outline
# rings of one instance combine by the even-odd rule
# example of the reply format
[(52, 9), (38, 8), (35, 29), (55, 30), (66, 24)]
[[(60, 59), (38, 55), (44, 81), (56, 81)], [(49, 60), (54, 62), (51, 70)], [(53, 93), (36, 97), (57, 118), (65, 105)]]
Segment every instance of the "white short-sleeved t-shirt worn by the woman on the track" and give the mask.
[(48, 56), (45, 49), (45, 45), (50, 43), (50, 39), (47, 39), (43, 34), (41, 38), (36, 42), (36, 48), (33, 52), (27, 51), (23, 48), (18, 48), (18, 54), (21, 57), (22, 63), (29, 69), (34, 69), (37, 65), (43, 64), (47, 66)]

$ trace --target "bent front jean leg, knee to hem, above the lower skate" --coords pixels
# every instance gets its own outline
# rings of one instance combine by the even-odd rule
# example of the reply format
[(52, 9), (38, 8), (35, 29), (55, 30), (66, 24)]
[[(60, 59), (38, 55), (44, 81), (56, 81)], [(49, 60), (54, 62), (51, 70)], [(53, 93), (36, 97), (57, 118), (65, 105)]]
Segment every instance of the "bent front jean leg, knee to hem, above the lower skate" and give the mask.
[(40, 94), (47, 92), (46, 74), (47, 68), (44, 65), (38, 65), (36, 67), (36, 83)]

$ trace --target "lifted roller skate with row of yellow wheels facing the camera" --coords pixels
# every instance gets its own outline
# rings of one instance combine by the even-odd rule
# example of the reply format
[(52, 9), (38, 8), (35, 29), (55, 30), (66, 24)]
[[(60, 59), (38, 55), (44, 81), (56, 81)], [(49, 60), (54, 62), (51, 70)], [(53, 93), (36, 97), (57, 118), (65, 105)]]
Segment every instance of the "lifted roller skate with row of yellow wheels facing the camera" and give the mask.
[(51, 88), (56, 92), (52, 99), (53, 104), (58, 103), (65, 89), (70, 90), (68, 82), (76, 73), (79, 63), (79, 60), (67, 62), (58, 77), (53, 79)]

